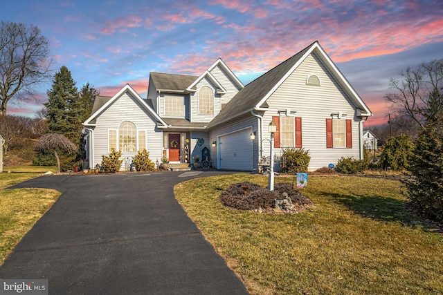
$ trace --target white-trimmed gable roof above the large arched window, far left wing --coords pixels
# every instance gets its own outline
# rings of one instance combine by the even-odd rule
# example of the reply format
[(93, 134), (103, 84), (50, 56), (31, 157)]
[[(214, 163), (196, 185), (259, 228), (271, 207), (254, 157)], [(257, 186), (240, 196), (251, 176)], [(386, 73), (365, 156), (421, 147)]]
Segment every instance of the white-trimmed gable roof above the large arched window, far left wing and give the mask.
[[(123, 88), (121, 88), (120, 91), (118, 91), (118, 93), (116, 93), (113, 97), (109, 98), (109, 97), (98, 96), (99, 99), (97, 102), (97, 106), (96, 106), (96, 102), (94, 102), (94, 106), (93, 106), (93, 108), (97, 108), (97, 110), (93, 111), (91, 117), (89, 117), (86, 121), (84, 121), (82, 123), (82, 125), (83, 126), (94, 125), (95, 124), (94, 120), (96, 120), (96, 117), (98, 117), (98, 115), (100, 115), (100, 113), (105, 111), (106, 108), (108, 108), (111, 104), (113, 104), (116, 101), (116, 99), (118, 99), (121, 95), (123, 95), (123, 93), (126, 93), (126, 92), (131, 93), (138, 100), (138, 102), (140, 102), (140, 104), (156, 118), (157, 122), (159, 122), (163, 126), (167, 126), (166, 122), (163, 121), (163, 119), (161, 119), (161, 117), (154, 112), (154, 109), (151, 106), (149, 106), (144, 101), (144, 99), (141, 98), (140, 95), (138, 95), (138, 93), (134, 90), (134, 88), (129, 86), (129, 84), (126, 84)], [(97, 99), (97, 97), (96, 97), (96, 99)], [(100, 106), (100, 104), (102, 104), (102, 105)]]

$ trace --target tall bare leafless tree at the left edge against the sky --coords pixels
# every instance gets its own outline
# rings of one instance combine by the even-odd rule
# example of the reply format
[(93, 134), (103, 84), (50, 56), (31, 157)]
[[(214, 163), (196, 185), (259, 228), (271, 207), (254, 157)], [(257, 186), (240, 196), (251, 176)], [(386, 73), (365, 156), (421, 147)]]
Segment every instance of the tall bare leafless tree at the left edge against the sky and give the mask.
[(52, 60), (49, 41), (37, 26), (24, 23), (0, 24), (0, 115), (6, 114), (8, 102), (33, 95), (35, 84), (50, 75)]

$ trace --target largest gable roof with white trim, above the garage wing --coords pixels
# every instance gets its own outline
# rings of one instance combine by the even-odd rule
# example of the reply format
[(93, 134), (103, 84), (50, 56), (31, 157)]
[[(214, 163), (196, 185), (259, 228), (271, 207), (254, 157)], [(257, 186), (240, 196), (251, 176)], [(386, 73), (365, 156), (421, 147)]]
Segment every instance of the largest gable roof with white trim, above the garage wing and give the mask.
[(318, 54), (325, 66), (337, 79), (338, 83), (343, 87), (345, 92), (350, 95), (350, 98), (360, 110), (358, 115), (370, 116), (372, 115), (368, 106), (365, 105), (361, 97), (356, 93), (354, 88), (345, 79), (343, 74), (335, 66), (334, 62), (327, 56), (325, 50), (321, 48), (318, 41), (307, 46), (296, 55), (293, 55), (289, 59), (283, 61), (275, 68), (272, 68), (262, 76), (253, 80), (251, 83), (244, 86), (233, 99), (226, 104), (220, 113), (210, 122), (209, 126), (213, 127), (228, 120), (231, 120), (244, 113), (251, 111), (266, 111), (266, 99), (268, 99), (272, 93), (280, 87), (280, 85), (293, 73), (294, 70), (304, 61), (313, 51)]

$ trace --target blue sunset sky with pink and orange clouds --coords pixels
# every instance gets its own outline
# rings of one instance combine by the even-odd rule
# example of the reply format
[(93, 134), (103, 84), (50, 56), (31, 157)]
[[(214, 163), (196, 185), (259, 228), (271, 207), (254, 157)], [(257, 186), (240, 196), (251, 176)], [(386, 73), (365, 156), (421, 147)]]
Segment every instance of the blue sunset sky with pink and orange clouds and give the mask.
[[(443, 58), (442, 0), (13, 0), (0, 20), (38, 26), (78, 88), (128, 83), (143, 98), (150, 72), (201, 75), (221, 57), (248, 84), (318, 40), (374, 113), (365, 126), (387, 120), (389, 77)], [(33, 116), (49, 88), (8, 114)]]

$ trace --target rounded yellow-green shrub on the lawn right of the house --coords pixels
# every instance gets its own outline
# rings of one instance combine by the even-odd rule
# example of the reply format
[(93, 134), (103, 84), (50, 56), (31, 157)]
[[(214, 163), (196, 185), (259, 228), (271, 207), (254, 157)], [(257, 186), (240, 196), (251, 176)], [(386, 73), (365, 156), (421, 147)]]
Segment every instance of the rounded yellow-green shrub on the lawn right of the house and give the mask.
[(382, 169), (401, 171), (408, 168), (408, 160), (413, 155), (414, 144), (409, 135), (397, 135), (386, 140), (381, 153)]

